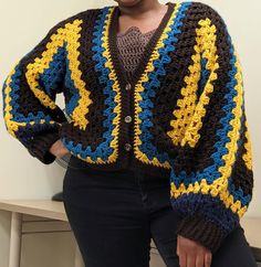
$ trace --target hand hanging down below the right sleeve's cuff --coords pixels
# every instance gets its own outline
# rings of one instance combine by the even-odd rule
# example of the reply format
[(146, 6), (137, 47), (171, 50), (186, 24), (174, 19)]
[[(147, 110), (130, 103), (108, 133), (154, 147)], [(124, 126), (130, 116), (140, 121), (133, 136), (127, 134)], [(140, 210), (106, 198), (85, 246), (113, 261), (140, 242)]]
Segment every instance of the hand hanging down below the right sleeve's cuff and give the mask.
[(211, 252), (181, 235), (177, 237), (177, 255), (180, 267), (210, 267), (211, 265)]

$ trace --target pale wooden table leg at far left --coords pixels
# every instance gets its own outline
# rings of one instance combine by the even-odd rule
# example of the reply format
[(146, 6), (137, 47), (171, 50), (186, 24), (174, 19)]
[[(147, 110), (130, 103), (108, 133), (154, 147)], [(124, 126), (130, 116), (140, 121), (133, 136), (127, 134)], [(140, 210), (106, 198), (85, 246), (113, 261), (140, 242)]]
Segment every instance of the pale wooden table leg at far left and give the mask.
[(18, 212), (12, 212), (9, 267), (19, 267), (20, 266), (21, 232), (22, 232), (22, 214), (18, 213)]

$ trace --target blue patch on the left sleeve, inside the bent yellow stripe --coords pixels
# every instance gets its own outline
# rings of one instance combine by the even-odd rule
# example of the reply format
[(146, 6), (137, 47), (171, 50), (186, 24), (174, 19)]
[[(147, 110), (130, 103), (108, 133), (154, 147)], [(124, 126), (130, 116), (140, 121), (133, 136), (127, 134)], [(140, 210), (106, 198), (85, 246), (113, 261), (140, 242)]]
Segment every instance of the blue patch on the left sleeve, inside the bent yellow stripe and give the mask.
[(42, 83), (41, 87), (43, 85), (44, 90), (52, 99), (55, 99), (56, 88), (59, 83), (62, 82), (63, 74), (65, 73), (65, 56), (64, 46), (58, 47), (58, 52), (53, 55), (49, 67), (39, 75), (40, 82)]

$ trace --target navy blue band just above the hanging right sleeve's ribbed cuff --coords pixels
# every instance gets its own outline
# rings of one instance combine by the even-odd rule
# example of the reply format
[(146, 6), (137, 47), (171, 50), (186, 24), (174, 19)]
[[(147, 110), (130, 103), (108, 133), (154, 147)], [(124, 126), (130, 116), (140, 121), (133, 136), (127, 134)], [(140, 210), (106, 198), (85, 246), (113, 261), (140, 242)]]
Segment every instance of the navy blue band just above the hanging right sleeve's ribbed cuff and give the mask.
[(239, 216), (227, 209), (221, 200), (210, 194), (188, 193), (170, 199), (171, 206), (182, 216), (197, 215), (212, 222), (226, 233), (230, 233), (239, 223)]

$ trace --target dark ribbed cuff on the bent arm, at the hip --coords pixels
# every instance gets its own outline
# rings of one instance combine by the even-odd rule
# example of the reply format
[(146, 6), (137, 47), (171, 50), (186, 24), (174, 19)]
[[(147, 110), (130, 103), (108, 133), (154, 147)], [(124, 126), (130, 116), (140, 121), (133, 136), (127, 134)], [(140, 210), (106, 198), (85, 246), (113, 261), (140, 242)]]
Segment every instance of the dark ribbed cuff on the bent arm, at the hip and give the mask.
[(29, 152), (44, 164), (51, 164), (56, 157), (49, 152), (52, 145), (60, 139), (59, 132), (44, 132), (32, 138)]

